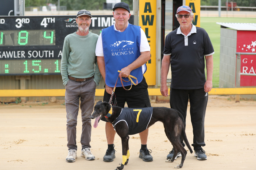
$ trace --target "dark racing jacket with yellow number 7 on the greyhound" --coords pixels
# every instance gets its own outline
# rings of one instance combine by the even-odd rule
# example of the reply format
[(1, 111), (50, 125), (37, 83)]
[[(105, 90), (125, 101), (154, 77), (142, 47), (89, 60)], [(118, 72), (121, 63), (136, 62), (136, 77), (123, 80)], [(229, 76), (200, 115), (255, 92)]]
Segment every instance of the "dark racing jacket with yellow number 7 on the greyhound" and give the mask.
[(129, 135), (141, 133), (148, 128), (148, 123), (151, 120), (153, 108), (122, 108), (120, 115), (112, 122), (115, 125), (120, 121), (125, 121), (129, 130)]

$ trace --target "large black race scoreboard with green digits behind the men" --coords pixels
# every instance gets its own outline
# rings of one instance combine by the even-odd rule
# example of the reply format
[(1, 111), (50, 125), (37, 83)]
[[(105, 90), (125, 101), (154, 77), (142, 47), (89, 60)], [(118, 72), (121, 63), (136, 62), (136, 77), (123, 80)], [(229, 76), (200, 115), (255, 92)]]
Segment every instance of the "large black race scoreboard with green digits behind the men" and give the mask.
[[(96, 34), (114, 24), (112, 15), (91, 19)], [(64, 38), (77, 30), (76, 16), (0, 16), (0, 75), (60, 74)]]

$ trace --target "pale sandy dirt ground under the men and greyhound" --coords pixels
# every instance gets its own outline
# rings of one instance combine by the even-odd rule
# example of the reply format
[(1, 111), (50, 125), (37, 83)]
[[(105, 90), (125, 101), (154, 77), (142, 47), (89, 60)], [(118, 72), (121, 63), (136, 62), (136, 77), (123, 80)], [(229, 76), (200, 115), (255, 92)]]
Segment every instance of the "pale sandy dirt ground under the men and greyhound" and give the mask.
[[(169, 103), (151, 104), (169, 107)], [(96, 159), (85, 160), (80, 156), (81, 113), (78, 118), (78, 158), (74, 163), (67, 163), (65, 161), (68, 154), (66, 110), (63, 101), (0, 104), (0, 169), (114, 170), (122, 162), (119, 136), (115, 137), (114, 162), (103, 162), (107, 143), (105, 123), (100, 121), (96, 129), (92, 127), (91, 136), (91, 150)], [(193, 134), (189, 113), (186, 133), (188, 141), (192, 144)], [(230, 96), (209, 96), (205, 142), (206, 146), (203, 149), (208, 159), (199, 161), (194, 157), (194, 153), (188, 153), (183, 170), (256, 169), (256, 101), (243, 100), (235, 103)], [(129, 147), (131, 156), (128, 165), (124, 168), (126, 170), (174, 169), (181, 161), (181, 158), (178, 158), (173, 163), (165, 162), (172, 146), (160, 122), (151, 126), (149, 130), (148, 149), (152, 150), (153, 162), (143, 162), (138, 157), (140, 150), (138, 134), (130, 136)]]

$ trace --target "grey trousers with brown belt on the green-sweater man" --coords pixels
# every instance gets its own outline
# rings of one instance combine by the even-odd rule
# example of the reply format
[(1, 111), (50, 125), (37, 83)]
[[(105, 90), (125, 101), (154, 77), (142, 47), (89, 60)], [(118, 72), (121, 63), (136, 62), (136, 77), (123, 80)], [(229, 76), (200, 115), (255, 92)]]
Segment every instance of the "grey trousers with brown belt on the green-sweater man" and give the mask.
[(96, 84), (92, 79), (84, 82), (69, 80), (66, 84), (65, 105), (67, 112), (67, 136), (68, 149), (76, 149), (76, 125), (79, 110), (79, 98), (81, 100), (82, 116), (82, 148), (91, 147), (91, 114), (94, 106)]

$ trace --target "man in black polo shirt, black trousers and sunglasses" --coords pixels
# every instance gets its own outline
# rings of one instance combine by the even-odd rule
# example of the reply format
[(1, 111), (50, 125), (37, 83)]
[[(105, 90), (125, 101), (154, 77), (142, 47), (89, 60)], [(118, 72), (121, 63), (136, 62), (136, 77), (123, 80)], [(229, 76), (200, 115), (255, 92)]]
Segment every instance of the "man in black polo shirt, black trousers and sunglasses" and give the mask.
[[(167, 74), (171, 64), (170, 106), (186, 115), (188, 99), (193, 126), (193, 144), (198, 160), (206, 160), (202, 146), (204, 143), (204, 117), (208, 101), (208, 92), (212, 88), (213, 45), (203, 28), (192, 24), (194, 14), (188, 6), (177, 9), (176, 17), (180, 27), (170, 32), (165, 38), (164, 57), (161, 67), (161, 94), (168, 96)], [(205, 77), (206, 61), (207, 79)], [(183, 143), (185, 146), (185, 144)], [(173, 157), (174, 150), (167, 155)], [(178, 152), (177, 157), (181, 154)]]

